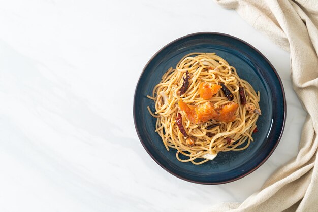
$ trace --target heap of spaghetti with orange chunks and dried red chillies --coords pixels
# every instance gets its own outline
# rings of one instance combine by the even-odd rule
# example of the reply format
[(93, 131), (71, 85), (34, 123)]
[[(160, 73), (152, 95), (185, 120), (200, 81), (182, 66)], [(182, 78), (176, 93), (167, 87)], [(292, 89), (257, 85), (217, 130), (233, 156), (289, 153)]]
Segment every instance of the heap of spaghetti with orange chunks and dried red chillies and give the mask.
[(261, 114), (260, 93), (215, 53), (185, 55), (176, 68), (167, 70), (152, 96), (147, 97), (155, 102), (155, 112), (149, 106), (148, 110), (156, 118), (155, 131), (166, 149), (176, 149), (179, 161), (196, 165), (219, 152), (246, 149), (253, 141)]

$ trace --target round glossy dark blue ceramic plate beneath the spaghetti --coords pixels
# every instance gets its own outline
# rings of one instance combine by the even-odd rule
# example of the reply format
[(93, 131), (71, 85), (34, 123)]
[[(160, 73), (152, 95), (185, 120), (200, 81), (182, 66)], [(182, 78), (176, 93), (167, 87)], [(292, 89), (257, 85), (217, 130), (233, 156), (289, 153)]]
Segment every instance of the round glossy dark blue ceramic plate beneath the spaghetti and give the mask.
[[(234, 66), (238, 75), (260, 91), (262, 116), (257, 121), (259, 132), (243, 151), (221, 152), (214, 160), (202, 165), (182, 163), (176, 159), (176, 150), (167, 151), (161, 137), (154, 132), (156, 119), (147, 111), (154, 111), (154, 102), (146, 97), (160, 82), (170, 67), (191, 52), (215, 52)], [(180, 179), (201, 183), (228, 183), (246, 176), (260, 167), (273, 153), (282, 135), (285, 123), (285, 94), (280, 78), (272, 64), (250, 44), (215, 32), (189, 34), (158, 51), (146, 64), (138, 81), (134, 98), (134, 121), (139, 139), (161, 167)]]

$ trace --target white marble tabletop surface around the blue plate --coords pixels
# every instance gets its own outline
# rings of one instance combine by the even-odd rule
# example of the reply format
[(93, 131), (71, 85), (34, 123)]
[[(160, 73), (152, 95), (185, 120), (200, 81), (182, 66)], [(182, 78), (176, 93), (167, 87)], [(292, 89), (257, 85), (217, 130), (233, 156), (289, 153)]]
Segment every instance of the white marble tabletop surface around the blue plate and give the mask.
[[(229, 33), (258, 48), (287, 98), (273, 155), (245, 178), (218, 186), (188, 183), (158, 166), (132, 115), (150, 57), (200, 31)], [(212, 0), (1, 1), (0, 211), (200, 211), (243, 201), (297, 154), (306, 113), (289, 73), (289, 53)]]

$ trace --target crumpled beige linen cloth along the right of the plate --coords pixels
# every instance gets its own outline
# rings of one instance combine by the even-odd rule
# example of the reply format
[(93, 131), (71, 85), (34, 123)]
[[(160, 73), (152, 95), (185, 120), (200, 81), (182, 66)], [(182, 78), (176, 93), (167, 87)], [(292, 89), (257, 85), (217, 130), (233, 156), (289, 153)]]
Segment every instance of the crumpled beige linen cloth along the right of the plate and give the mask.
[(318, 211), (318, 0), (216, 2), (290, 51), (293, 87), (308, 115), (296, 158), (243, 203), (222, 203), (211, 211)]

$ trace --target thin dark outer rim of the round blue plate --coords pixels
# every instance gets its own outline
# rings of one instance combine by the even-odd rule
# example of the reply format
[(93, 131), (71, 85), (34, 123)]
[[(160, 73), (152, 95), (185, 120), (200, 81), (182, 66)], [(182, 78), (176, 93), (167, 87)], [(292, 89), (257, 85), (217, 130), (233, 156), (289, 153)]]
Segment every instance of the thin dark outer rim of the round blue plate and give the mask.
[[(179, 40), (182, 40), (182, 39), (185, 39), (185, 38), (188, 38), (188, 37), (192, 37), (192, 36), (197, 36), (197, 35), (204, 35), (204, 34), (212, 34), (212, 35), (216, 35), (216, 36), (224, 36), (224, 37), (229, 37), (229, 38), (232, 38), (232, 39), (235, 39), (239, 42), (242, 42), (243, 44), (249, 46), (250, 48), (252, 48), (253, 50), (255, 50), (261, 57), (263, 57), (263, 59), (269, 64), (269, 66), (272, 68), (274, 74), (276, 75), (277, 79), (278, 79), (278, 82), (279, 82), (279, 85), (280, 85), (280, 88), (281, 88), (281, 91), (282, 91), (282, 96), (283, 96), (283, 107), (284, 107), (284, 113), (283, 113), (283, 122), (282, 122), (282, 128), (281, 128), (281, 131), (280, 131), (280, 134), (279, 134), (279, 137), (278, 139), (276, 140), (276, 143), (274, 145), (274, 147), (272, 148), (272, 150), (269, 152), (269, 154), (255, 167), (253, 167), (252, 169), (250, 169), (248, 172), (244, 173), (244, 174), (241, 174), (239, 176), (237, 176), (236, 178), (234, 179), (231, 179), (231, 180), (227, 180), (227, 181), (221, 181), (221, 182), (200, 182), (200, 181), (196, 181), (196, 180), (190, 180), (190, 179), (187, 179), (187, 178), (184, 178), (183, 176), (180, 176), (179, 174), (176, 174), (174, 173), (173, 171), (170, 171), (168, 168), (166, 168), (163, 164), (161, 164), (160, 161), (158, 161), (151, 153), (150, 151), (147, 149), (147, 147), (145, 146), (145, 143), (144, 143), (144, 140), (141, 138), (141, 135), (139, 133), (139, 130), (138, 130), (138, 127), (137, 127), (137, 123), (136, 123), (136, 114), (135, 114), (135, 100), (136, 100), (136, 95), (137, 95), (137, 88), (139, 86), (139, 83), (140, 83), (140, 80), (141, 80), (141, 77), (142, 75), (144, 74), (146, 68), (148, 67), (149, 63), (162, 51), (164, 50), (166, 47), (170, 46), (171, 44), (179, 41)], [(247, 43), (246, 41), (243, 41), (242, 39), (239, 39), (235, 36), (231, 36), (230, 34), (226, 34), (226, 33), (221, 33), (221, 32), (196, 32), (196, 33), (190, 33), (190, 34), (186, 34), (185, 36), (182, 36), (180, 38), (177, 38), (171, 42), (169, 42), (168, 44), (166, 44), (164, 47), (162, 47), (160, 50), (158, 50), (149, 60), (148, 62), (146, 63), (146, 65), (144, 66), (144, 68), (142, 69), (142, 72), (139, 76), (139, 79), (138, 79), (138, 82), (136, 84), (136, 88), (135, 88), (135, 92), (134, 92), (134, 102), (133, 102), (133, 117), (134, 117), (134, 125), (135, 125), (135, 130), (137, 132), (137, 135), (138, 135), (138, 138), (142, 144), (142, 146), (144, 147), (144, 149), (146, 150), (146, 152), (148, 153), (148, 155), (150, 155), (150, 157), (158, 164), (160, 165), (164, 170), (168, 171), (170, 174), (176, 176), (177, 178), (181, 179), (181, 180), (184, 180), (184, 181), (187, 181), (187, 182), (191, 182), (191, 183), (196, 183), (196, 184), (203, 184), (203, 185), (219, 185), (219, 184), (226, 184), (226, 183), (230, 183), (230, 182), (234, 182), (234, 181), (237, 181), (241, 178), (244, 178), (245, 176), (247, 176), (248, 174), (252, 173), (253, 171), (255, 171), (256, 169), (258, 169), (261, 165), (263, 165), (267, 160), (268, 158), (273, 154), (274, 150), (276, 149), (276, 147), (278, 146), (279, 142), (280, 142), (280, 139), (282, 137), (282, 134), (284, 132), (284, 128), (285, 128), (285, 121), (286, 121), (286, 98), (285, 98), (285, 90), (284, 90), (284, 87), (283, 87), (283, 84), (281, 82), (281, 79), (276, 71), (276, 69), (274, 68), (274, 66), (272, 65), (272, 63), (265, 57), (264, 54), (262, 54), (257, 48), (255, 48), (254, 46), (252, 46), (251, 44)]]

